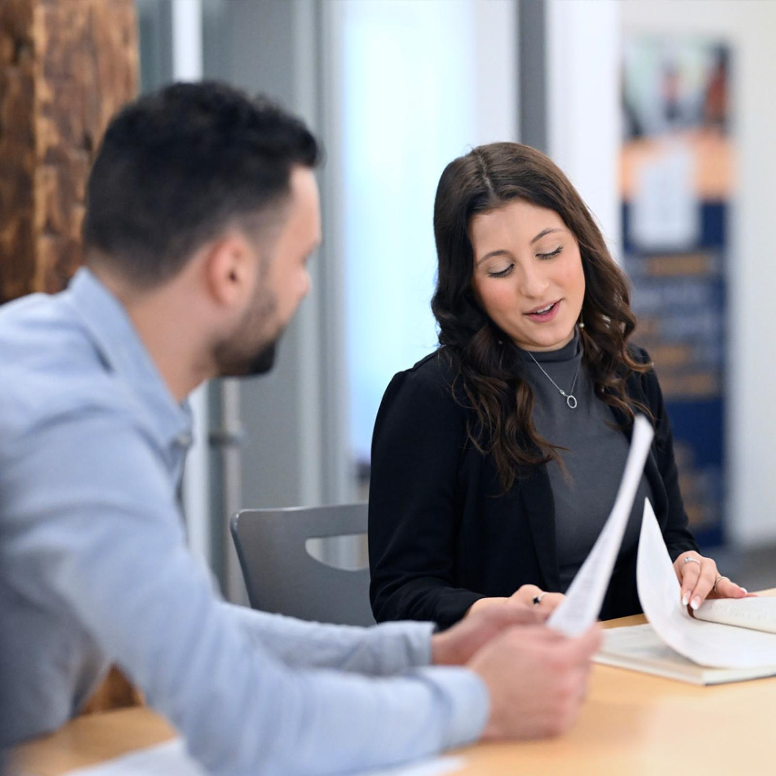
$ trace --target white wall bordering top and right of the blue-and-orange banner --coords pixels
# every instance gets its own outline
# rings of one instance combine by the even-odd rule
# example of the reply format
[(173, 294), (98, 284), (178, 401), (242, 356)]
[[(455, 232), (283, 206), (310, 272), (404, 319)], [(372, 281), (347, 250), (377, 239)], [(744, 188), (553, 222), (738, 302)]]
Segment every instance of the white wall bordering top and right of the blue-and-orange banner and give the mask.
[(744, 546), (776, 541), (776, 2), (623, 2), (624, 33), (702, 35), (733, 47), (738, 195), (729, 253), (728, 530)]

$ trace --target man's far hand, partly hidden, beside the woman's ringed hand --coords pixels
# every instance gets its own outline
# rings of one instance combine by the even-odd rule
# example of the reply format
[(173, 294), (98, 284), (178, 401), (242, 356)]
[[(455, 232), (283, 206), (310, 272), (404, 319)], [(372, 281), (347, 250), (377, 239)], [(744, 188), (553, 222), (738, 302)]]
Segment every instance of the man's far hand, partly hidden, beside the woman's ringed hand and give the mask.
[(538, 625), (547, 611), (539, 607), (494, 606), (473, 611), (443, 633), (431, 636), (431, 663), (438, 666), (462, 666), (490, 639), (514, 625)]

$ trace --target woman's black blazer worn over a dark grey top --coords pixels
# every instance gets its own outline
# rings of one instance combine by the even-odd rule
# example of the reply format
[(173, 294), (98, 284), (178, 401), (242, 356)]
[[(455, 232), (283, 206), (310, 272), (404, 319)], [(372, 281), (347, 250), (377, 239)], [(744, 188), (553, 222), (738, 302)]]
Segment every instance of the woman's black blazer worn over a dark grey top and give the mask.
[[(641, 348), (632, 348), (632, 355), (650, 360)], [(399, 372), (380, 404), (369, 488), (369, 597), (377, 622), (432, 620), (447, 628), (479, 598), (508, 596), (523, 584), (559, 589), (546, 466), (532, 467), (500, 495), (493, 459), (466, 438), (471, 410), (454, 400), (452, 377), (438, 350)], [(698, 547), (688, 530), (654, 370), (631, 374), (627, 392), (650, 408), (656, 422), (645, 472), (663, 538), (676, 559)], [(615, 411), (613, 419), (622, 424)], [(630, 431), (623, 433), (630, 438)], [(640, 611), (634, 551), (618, 559), (601, 618)]]

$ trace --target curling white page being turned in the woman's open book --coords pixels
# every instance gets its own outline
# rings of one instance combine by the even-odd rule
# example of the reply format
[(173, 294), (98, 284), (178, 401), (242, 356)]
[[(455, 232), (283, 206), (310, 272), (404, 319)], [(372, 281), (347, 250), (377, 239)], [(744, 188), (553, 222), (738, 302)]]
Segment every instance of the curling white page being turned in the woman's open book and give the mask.
[(776, 665), (776, 635), (692, 618), (681, 605), (681, 587), (649, 501), (636, 563), (639, 599), (660, 639), (689, 660), (712, 668)]

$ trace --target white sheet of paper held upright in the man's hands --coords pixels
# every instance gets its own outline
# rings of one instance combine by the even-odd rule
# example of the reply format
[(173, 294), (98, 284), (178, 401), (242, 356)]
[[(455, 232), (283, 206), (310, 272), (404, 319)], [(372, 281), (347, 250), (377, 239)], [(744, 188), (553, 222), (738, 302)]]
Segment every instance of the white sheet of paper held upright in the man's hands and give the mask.
[(628, 460), (620, 480), (615, 505), (598, 535), (577, 576), (574, 577), (566, 598), (561, 601), (547, 620), (547, 625), (566, 636), (580, 636), (598, 618), (604, 603), (606, 589), (615, 568), (622, 536), (628, 525), (633, 499), (639, 489), (639, 481), (650, 452), (653, 431), (646, 417), (638, 415), (633, 424)]

